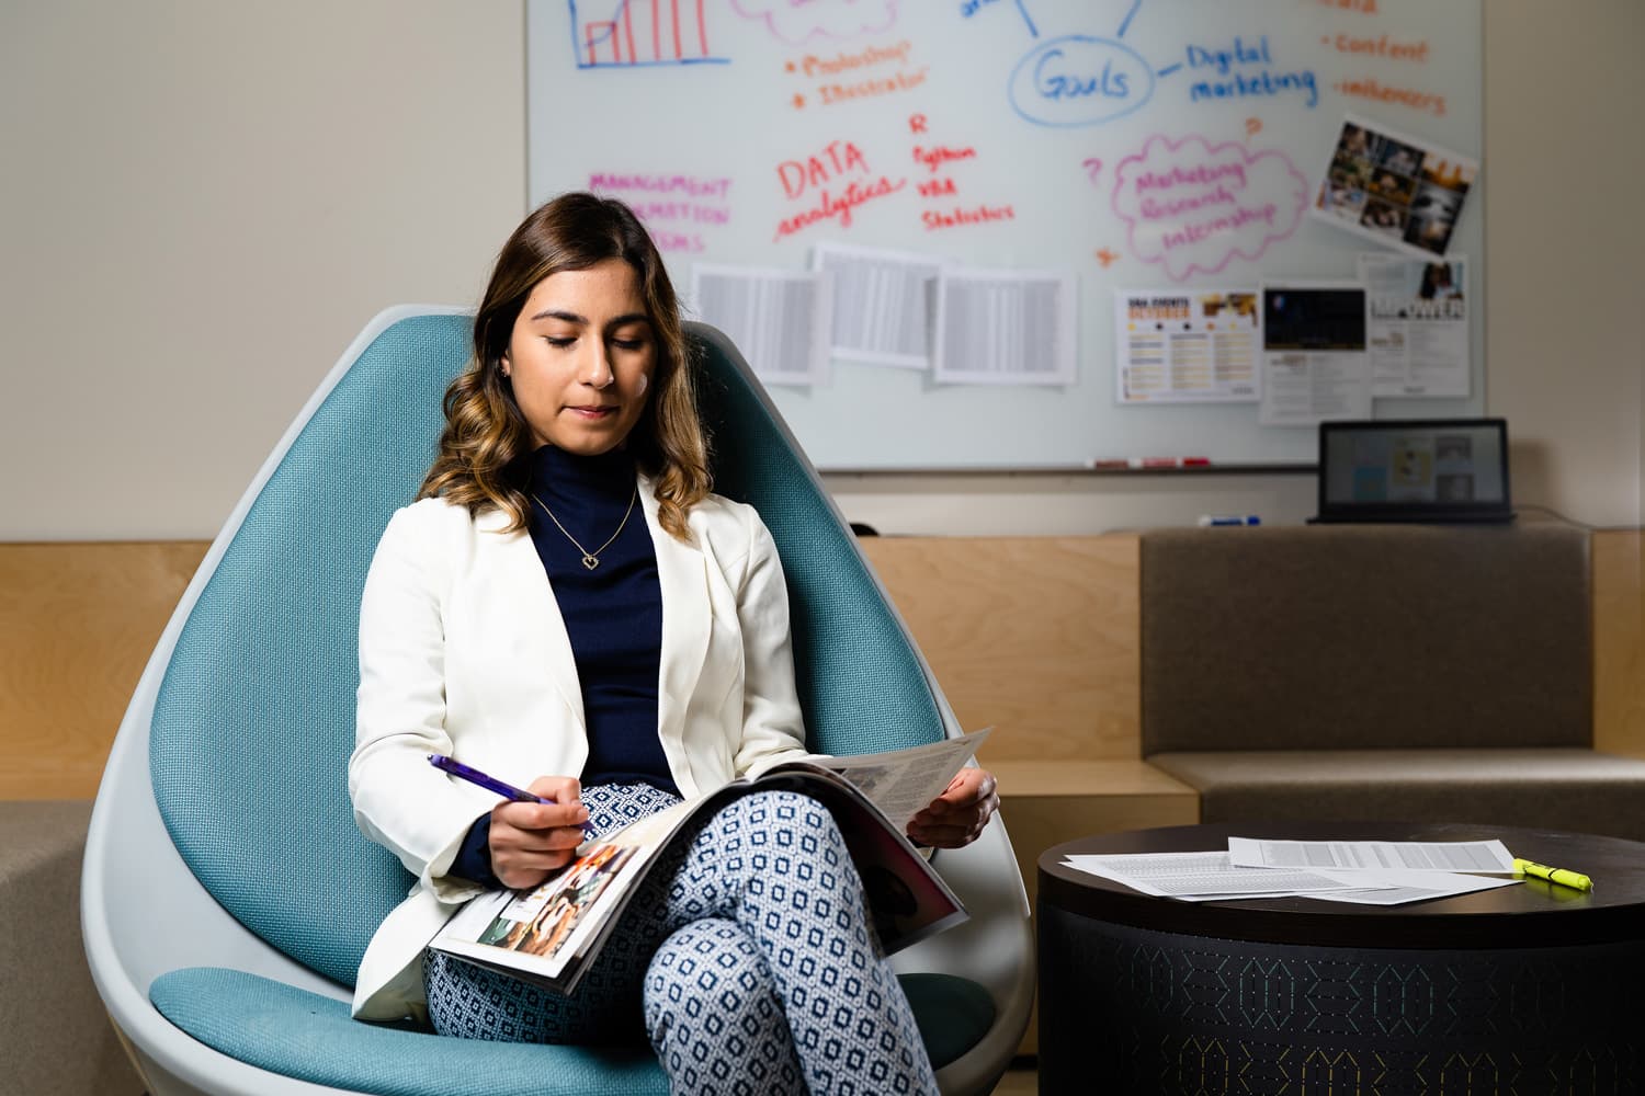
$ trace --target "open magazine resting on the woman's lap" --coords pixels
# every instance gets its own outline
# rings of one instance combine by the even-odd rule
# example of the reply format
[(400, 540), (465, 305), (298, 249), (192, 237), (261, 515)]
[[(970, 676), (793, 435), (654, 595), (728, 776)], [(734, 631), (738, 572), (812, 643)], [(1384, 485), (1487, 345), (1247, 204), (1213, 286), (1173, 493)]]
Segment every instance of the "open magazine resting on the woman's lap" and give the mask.
[(576, 859), (531, 891), (489, 891), (457, 910), (429, 946), (559, 992), (617, 925), (658, 856), (686, 823), (752, 790), (804, 792), (829, 808), (862, 876), (885, 955), (966, 920), (967, 914), (905, 831), (943, 794), (989, 731), (854, 758), (786, 761), (755, 777), (632, 822), (577, 848)]

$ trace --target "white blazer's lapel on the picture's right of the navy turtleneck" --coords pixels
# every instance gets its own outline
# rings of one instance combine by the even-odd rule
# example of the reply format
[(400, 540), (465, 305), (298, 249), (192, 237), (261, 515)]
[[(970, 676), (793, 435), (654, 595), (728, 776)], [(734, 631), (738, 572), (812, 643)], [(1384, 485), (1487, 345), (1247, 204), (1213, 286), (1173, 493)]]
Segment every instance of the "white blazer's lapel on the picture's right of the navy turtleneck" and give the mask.
[[(655, 483), (640, 478), (640, 504), (656, 547), (656, 578), (663, 593), (663, 657), (658, 672), (656, 721), (665, 749), (684, 733), (686, 707), (702, 674), (709, 647), (707, 560), (694, 544), (683, 544), (656, 521)], [(671, 751), (670, 751), (671, 753)]]

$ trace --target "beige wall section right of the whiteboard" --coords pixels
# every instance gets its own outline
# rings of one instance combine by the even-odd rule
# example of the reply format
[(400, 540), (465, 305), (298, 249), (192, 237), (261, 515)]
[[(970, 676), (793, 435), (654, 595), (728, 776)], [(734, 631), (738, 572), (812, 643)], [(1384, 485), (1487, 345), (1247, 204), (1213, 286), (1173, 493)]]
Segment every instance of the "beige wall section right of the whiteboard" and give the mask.
[(1594, 524), (1645, 509), (1645, 3), (1485, 5), (1487, 408), (1515, 488)]

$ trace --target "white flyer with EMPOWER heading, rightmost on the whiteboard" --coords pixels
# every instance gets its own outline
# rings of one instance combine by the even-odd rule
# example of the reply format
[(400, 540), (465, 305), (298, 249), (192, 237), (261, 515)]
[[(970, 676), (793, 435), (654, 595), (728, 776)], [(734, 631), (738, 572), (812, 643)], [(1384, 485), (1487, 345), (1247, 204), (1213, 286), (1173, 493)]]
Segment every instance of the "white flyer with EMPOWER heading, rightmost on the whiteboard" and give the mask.
[(1467, 261), (1360, 255), (1372, 396), (1467, 396)]

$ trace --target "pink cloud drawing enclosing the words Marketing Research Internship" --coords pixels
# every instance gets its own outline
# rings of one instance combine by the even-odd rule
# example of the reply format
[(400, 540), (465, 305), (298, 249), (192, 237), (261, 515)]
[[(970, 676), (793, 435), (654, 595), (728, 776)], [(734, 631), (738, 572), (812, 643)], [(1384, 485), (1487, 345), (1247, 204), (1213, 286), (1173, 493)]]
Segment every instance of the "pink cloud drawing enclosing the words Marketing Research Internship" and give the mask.
[(1308, 181), (1291, 158), (1202, 136), (1150, 136), (1114, 169), (1114, 212), (1132, 255), (1173, 281), (1221, 273), (1235, 256), (1257, 261), (1296, 230)]

